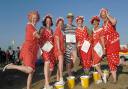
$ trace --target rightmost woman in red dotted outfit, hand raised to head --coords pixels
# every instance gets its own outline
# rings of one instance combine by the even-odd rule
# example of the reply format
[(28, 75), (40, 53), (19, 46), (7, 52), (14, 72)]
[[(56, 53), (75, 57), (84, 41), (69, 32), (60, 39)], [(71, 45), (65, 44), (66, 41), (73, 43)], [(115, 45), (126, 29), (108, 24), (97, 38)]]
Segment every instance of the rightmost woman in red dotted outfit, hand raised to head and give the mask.
[(117, 20), (109, 14), (106, 8), (100, 10), (100, 17), (103, 20), (103, 33), (105, 39), (106, 55), (108, 66), (113, 77), (113, 83), (117, 82), (117, 66), (119, 65), (120, 40), (116, 31)]

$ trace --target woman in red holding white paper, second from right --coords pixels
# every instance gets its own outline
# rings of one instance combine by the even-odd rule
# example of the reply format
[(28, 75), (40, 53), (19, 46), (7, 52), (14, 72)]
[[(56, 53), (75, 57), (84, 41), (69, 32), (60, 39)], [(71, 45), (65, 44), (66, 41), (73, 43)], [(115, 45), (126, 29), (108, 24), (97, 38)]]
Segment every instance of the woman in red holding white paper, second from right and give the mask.
[[(91, 18), (91, 24), (93, 25), (93, 33), (92, 33), (92, 57), (93, 62), (92, 66), (98, 71), (101, 75), (103, 81), (106, 83), (106, 76), (104, 76), (101, 68), (100, 62), (102, 60), (102, 56), (105, 54), (105, 44), (104, 44), (104, 37), (103, 37), (103, 28), (99, 27), (100, 18), (98, 16), (93, 16)], [(98, 47), (98, 49), (97, 49)], [(99, 80), (100, 82), (101, 80)]]

